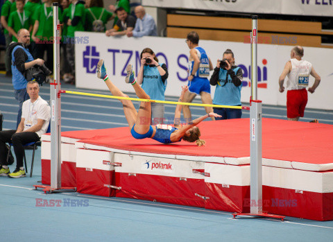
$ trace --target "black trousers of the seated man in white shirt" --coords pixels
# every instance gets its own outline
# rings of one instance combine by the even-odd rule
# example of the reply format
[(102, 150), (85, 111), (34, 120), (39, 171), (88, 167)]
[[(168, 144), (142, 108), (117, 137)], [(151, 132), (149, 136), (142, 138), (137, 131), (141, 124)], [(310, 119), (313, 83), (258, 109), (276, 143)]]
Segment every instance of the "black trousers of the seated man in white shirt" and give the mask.
[(40, 137), (35, 132), (18, 132), (16, 130), (0, 131), (0, 164), (7, 165), (6, 143), (12, 143), (16, 157), (16, 167), (23, 166), (24, 144), (39, 141)]

